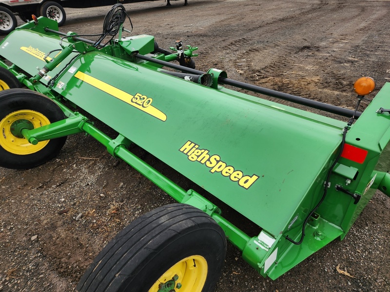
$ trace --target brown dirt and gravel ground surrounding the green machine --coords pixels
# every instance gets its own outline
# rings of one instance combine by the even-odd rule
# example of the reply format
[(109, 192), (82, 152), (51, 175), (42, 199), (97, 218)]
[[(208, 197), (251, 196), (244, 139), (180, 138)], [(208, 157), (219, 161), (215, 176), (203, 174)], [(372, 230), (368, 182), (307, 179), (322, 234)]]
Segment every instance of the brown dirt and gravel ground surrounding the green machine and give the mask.
[[(358, 77), (373, 77), (375, 92), (390, 82), (389, 0), (165, 4), (125, 5), (133, 35), (154, 35), (163, 48), (176, 39), (198, 46), (199, 70), (222, 69), (232, 79), (347, 108), (355, 107), (352, 84)], [(60, 30), (100, 33), (108, 8), (68, 9)], [(201, 192), (150, 154), (132, 150), (183, 188)], [(172, 202), (81, 134), (69, 137), (57, 159), (36, 169), (0, 168), (0, 291), (75, 291), (119, 230)], [(342, 242), (332, 242), (275, 281), (256, 274), (229, 244), (215, 291), (390, 291), (389, 215), (389, 198), (377, 192)]]

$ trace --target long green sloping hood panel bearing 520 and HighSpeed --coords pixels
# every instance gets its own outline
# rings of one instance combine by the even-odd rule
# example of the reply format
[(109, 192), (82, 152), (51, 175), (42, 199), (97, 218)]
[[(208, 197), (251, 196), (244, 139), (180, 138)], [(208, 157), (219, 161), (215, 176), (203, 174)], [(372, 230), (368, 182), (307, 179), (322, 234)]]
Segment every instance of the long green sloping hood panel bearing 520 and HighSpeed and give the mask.
[(98, 52), (72, 66), (56, 91), (273, 235), (301, 212), (341, 141), (341, 122)]

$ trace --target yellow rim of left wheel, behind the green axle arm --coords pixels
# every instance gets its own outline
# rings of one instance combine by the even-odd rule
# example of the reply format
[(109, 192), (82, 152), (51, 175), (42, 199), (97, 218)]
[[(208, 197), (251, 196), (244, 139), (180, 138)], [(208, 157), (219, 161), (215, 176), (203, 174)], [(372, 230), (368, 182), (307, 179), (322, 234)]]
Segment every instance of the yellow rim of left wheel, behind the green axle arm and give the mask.
[(50, 140), (46, 140), (32, 145), (25, 138), (15, 136), (14, 126), (18, 121), (26, 121), (29, 125), (32, 124), (33, 128), (50, 124), (49, 119), (38, 111), (18, 110), (10, 113), (0, 121), (0, 146), (4, 150), (13, 154), (27, 155), (38, 152), (49, 143)]

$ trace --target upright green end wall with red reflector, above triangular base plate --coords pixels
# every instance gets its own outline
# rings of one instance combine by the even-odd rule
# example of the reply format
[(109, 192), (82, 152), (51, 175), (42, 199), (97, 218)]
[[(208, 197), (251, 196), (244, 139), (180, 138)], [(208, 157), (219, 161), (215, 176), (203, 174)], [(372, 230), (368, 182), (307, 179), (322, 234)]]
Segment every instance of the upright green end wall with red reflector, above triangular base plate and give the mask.
[[(370, 188), (375, 179), (374, 169), (389, 170), (389, 151), (383, 147), (388, 144), (390, 138), (390, 115), (389, 113), (377, 113), (376, 111), (381, 107), (390, 108), (389, 83), (375, 96), (347, 133), (346, 144), (357, 149), (357, 157), (359, 153), (362, 153), (363, 159), (354, 161), (353, 157), (342, 157), (339, 160), (339, 164), (333, 170), (331, 188), (326, 200), (317, 210), (322, 218), (343, 229), (344, 234), (341, 238), (345, 237), (353, 222), (375, 193), (375, 190)], [(336, 184), (352, 194), (360, 195), (359, 202), (355, 204), (351, 196), (336, 191), (334, 188)]]

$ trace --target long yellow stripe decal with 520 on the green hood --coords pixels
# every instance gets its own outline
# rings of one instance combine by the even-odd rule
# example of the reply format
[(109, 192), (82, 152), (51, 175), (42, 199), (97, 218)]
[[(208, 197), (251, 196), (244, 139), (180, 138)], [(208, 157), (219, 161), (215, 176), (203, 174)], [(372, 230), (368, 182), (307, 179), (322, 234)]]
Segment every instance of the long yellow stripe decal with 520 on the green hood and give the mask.
[(139, 93), (137, 93), (136, 95), (131, 95), (125, 91), (117, 89), (110, 84), (107, 84), (99, 79), (96, 79), (95, 77), (92, 77), (80, 71), (76, 73), (75, 77), (92, 85), (93, 87), (96, 87), (101, 91), (104, 91), (116, 97), (117, 99), (124, 101), (125, 103), (137, 108), (138, 110), (142, 110), (143, 112), (154, 116), (155, 118), (163, 122), (167, 120), (167, 116), (165, 115), (165, 113), (153, 107), (151, 105), (153, 100), (151, 98), (146, 97), (145, 95)]

